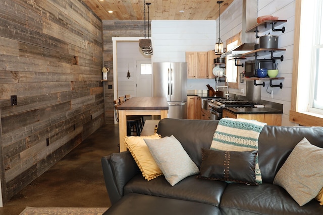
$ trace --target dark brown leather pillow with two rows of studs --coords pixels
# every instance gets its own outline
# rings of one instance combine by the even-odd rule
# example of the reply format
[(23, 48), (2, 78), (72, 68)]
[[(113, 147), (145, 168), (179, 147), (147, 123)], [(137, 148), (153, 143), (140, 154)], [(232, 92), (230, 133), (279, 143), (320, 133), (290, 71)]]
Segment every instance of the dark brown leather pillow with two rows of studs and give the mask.
[(202, 149), (198, 178), (258, 185), (254, 172), (257, 153)]

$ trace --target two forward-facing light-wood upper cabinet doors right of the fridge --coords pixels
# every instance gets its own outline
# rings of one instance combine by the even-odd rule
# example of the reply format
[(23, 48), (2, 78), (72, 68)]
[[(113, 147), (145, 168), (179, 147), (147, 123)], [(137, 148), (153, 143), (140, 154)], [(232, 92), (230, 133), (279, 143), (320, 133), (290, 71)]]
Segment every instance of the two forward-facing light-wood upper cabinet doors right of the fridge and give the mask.
[(186, 52), (187, 78), (207, 79), (208, 78), (208, 53), (207, 52)]

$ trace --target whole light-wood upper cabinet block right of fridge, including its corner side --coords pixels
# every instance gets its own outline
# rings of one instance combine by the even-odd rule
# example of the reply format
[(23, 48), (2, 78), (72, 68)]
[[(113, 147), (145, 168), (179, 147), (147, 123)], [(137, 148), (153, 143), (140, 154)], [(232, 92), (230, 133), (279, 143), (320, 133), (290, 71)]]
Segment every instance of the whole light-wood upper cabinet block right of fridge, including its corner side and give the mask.
[(188, 79), (213, 79), (214, 51), (186, 52)]

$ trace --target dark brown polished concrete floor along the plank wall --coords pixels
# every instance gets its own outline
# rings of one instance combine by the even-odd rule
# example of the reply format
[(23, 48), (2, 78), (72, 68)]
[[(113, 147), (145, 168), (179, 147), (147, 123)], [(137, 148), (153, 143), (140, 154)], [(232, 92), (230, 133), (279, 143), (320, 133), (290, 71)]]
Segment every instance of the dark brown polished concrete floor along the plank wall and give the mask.
[(119, 127), (106, 124), (13, 196), (0, 215), (19, 215), (31, 207), (109, 207), (101, 157), (119, 152)]

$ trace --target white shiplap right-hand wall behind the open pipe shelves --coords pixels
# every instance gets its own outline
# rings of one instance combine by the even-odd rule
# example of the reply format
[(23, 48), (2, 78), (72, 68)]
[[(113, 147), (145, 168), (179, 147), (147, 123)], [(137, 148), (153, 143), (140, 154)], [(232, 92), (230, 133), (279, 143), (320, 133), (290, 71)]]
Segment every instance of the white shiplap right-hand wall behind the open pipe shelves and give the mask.
[[(249, 0), (247, 0), (249, 1)], [(281, 31), (273, 32), (272, 30), (267, 30), (265, 32), (259, 32), (258, 35), (262, 36), (268, 34), (279, 36), (279, 48), (285, 48), (284, 52), (274, 53), (274, 56), (284, 55), (284, 60), (279, 63), (279, 75), (278, 77), (284, 77), (285, 80), (273, 81), (273, 84), (283, 83), (283, 88), (279, 87), (271, 88), (268, 87), (268, 91), (273, 90), (273, 99), (270, 94), (266, 93), (267, 86), (269, 82), (265, 82), (265, 87), (261, 87), (261, 99), (280, 103), (284, 105), (284, 114), (282, 125), (295, 125), (289, 121), (289, 110), (291, 106), (291, 86), (292, 86), (292, 73), (293, 73), (293, 50), (294, 50), (294, 21), (295, 21), (295, 1), (294, 0), (261, 0), (258, 1), (258, 14), (259, 16), (272, 15), (277, 16), (279, 19), (287, 20), (283, 25), (278, 26), (281, 28), (285, 26), (285, 33)], [(218, 20), (217, 20), (218, 22)], [(256, 25), (256, 20), (254, 21)], [(249, 27), (247, 27), (249, 28)], [(230, 37), (240, 33), (242, 30), (242, 1), (235, 0), (227, 10), (221, 14), (221, 39), (225, 40)], [(250, 41), (248, 41), (250, 42)], [(259, 42), (259, 39), (255, 39), (255, 42)], [(258, 59), (270, 58), (270, 55), (265, 55), (258, 57)], [(248, 57), (252, 59), (252, 57)], [(230, 89), (230, 92), (235, 94), (241, 94), (240, 89), (245, 88), (245, 83), (239, 83), (239, 89)], [(241, 94), (243, 95), (243, 94)]]

